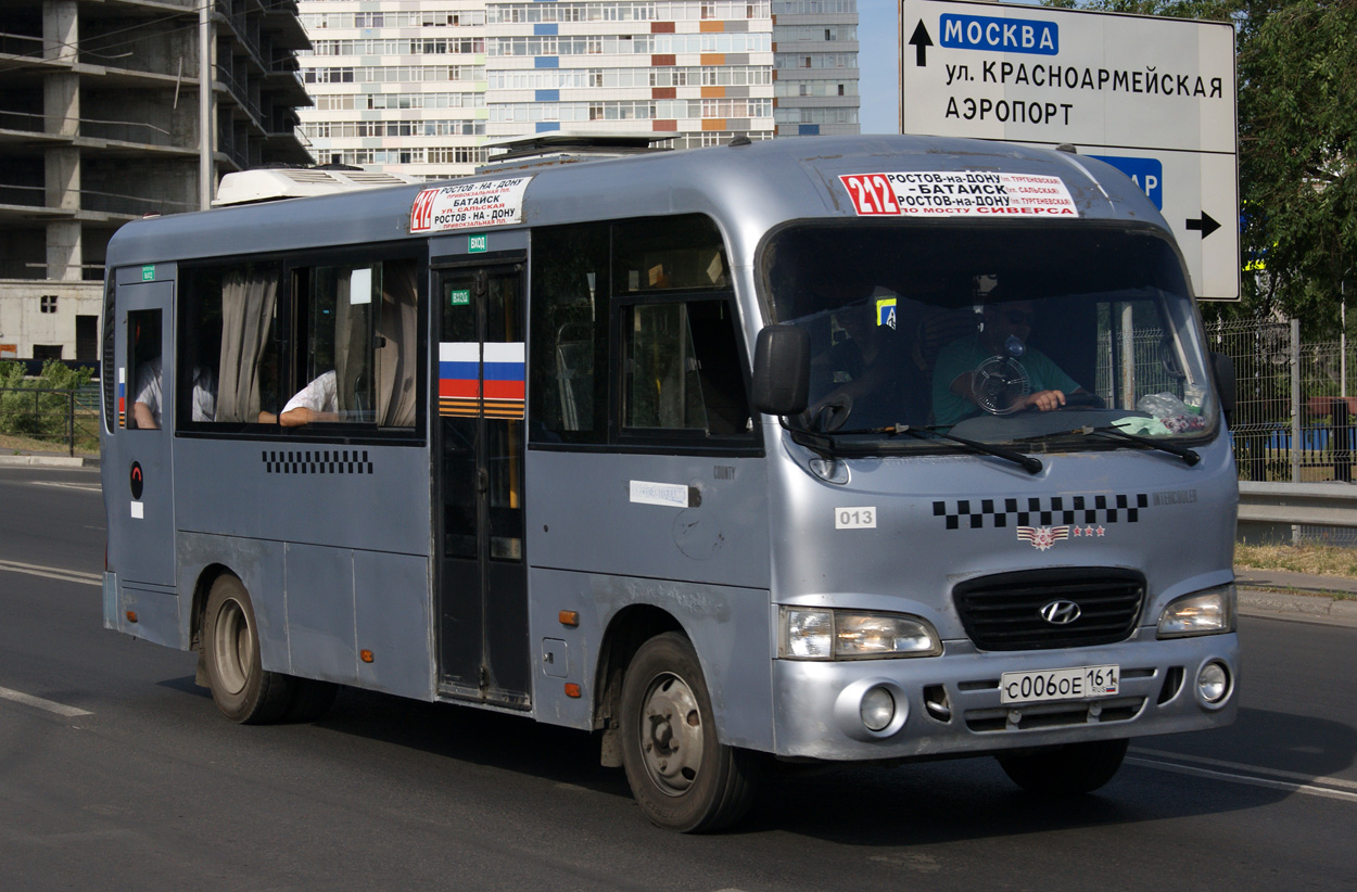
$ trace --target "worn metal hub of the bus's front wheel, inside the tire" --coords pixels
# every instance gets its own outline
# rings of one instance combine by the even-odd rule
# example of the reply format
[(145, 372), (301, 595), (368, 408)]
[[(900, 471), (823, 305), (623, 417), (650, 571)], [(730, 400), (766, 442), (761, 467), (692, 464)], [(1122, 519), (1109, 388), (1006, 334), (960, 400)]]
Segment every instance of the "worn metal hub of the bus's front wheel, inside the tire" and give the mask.
[(641, 710), (641, 754), (646, 773), (665, 794), (688, 792), (702, 769), (702, 710), (688, 683), (658, 675)]

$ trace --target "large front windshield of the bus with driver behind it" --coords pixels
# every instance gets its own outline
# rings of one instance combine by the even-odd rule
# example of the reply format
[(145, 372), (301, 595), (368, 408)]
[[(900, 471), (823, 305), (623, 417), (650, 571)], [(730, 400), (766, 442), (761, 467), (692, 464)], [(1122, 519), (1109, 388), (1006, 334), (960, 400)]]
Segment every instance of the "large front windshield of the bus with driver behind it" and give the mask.
[(1182, 266), (1148, 229), (797, 225), (768, 240), (761, 271), (772, 321), (810, 335), (810, 403), (788, 423), (836, 450), (1215, 428)]

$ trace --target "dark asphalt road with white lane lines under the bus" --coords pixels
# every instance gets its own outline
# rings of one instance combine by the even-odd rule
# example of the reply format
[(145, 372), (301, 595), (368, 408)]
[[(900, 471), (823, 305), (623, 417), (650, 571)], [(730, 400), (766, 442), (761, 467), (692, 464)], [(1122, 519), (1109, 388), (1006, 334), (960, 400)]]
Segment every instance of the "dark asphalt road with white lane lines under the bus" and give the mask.
[(1139, 740), (1095, 796), (989, 759), (776, 778), (651, 828), (585, 735), (341, 693), (242, 728), (194, 656), (106, 632), (88, 470), (0, 468), (4, 889), (1352, 889), (1357, 629), (1246, 618), (1238, 724)]

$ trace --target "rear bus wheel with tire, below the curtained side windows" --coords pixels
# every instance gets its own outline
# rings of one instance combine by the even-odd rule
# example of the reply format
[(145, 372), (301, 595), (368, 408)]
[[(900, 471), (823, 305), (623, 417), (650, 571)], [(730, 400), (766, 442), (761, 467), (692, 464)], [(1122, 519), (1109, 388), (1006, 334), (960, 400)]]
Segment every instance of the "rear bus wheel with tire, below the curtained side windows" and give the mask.
[(261, 666), (256, 628), (246, 587), (235, 576), (218, 576), (208, 594), (202, 653), (212, 700), (242, 725), (284, 718), (296, 690), (297, 679)]

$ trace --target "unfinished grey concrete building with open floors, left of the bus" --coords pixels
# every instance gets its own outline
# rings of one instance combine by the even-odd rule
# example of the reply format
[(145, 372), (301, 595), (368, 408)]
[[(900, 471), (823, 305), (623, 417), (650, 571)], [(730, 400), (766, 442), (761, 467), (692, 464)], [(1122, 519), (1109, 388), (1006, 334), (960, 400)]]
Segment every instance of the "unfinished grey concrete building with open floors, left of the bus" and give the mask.
[(96, 359), (103, 258), (118, 226), (204, 206), (223, 174), (309, 163), (296, 129), (296, 107), (309, 103), (296, 3), (209, 0), (206, 16), (202, 7), (0, 1), (0, 359)]

